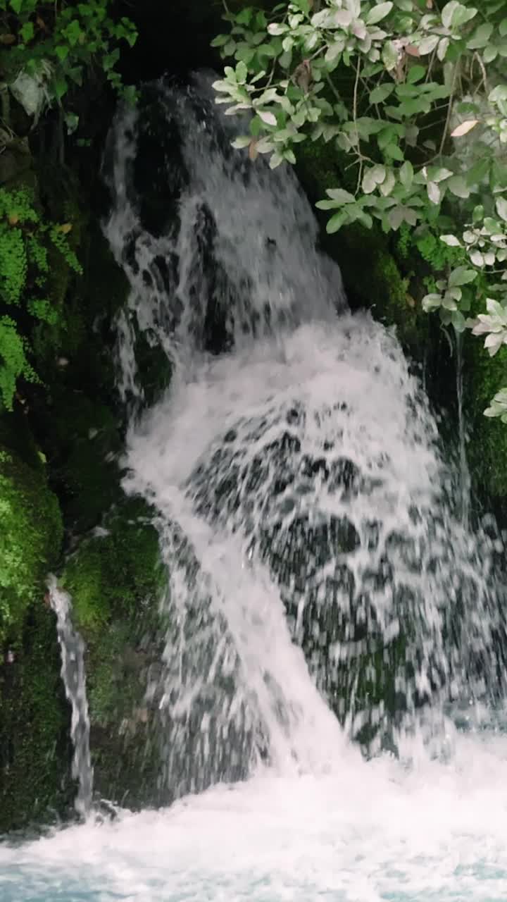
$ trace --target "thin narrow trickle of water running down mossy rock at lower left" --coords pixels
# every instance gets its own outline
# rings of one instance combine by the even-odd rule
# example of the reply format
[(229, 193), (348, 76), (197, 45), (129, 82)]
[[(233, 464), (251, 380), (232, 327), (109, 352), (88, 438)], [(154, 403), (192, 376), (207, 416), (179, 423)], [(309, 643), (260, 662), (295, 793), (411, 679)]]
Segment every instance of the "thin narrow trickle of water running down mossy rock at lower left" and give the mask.
[(85, 676), (85, 646), (74, 629), (71, 620), (69, 595), (63, 592), (55, 579), (49, 581), (51, 608), (56, 614), (58, 640), (61, 653), (61, 679), (72, 709), (70, 738), (74, 746), (72, 777), (78, 781), (75, 807), (78, 815), (88, 815), (93, 795), (93, 768), (91, 766), (87, 685)]

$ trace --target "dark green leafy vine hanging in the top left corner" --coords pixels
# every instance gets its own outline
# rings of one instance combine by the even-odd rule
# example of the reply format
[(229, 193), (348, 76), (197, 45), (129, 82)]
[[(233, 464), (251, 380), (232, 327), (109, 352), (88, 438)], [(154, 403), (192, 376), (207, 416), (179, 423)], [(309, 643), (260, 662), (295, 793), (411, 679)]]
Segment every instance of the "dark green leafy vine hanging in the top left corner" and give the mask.
[[(134, 46), (137, 32), (126, 17), (116, 20), (112, 0), (0, 0), (0, 77), (35, 117), (44, 106), (61, 104), (71, 87), (81, 87), (87, 70), (98, 68), (127, 96), (117, 70), (119, 44)], [(78, 116), (68, 113), (69, 131)]]

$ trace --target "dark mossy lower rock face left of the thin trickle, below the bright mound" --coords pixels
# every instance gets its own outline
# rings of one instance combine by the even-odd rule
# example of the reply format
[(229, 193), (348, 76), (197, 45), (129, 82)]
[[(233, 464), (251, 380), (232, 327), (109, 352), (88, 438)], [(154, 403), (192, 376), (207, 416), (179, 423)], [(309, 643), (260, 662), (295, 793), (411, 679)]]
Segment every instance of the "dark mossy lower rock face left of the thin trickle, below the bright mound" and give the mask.
[(54, 615), (39, 598), (0, 657), (0, 833), (71, 810), (70, 711)]

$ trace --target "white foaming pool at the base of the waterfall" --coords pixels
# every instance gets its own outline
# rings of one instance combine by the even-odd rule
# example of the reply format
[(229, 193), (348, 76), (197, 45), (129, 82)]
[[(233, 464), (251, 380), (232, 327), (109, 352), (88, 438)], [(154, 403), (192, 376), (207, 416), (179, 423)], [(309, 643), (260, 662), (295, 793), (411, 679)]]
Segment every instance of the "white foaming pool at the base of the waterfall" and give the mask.
[(165, 811), (0, 846), (0, 892), (5, 902), (504, 902), (506, 779), (507, 741), (491, 734), (461, 737), (447, 765), (265, 773)]

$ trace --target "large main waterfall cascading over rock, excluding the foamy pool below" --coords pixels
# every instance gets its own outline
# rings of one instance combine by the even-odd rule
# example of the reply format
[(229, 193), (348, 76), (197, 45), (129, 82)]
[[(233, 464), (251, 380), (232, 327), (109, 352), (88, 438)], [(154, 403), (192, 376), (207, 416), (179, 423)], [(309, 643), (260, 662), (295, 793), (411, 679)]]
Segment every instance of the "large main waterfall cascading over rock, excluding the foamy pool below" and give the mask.
[[(498, 537), (456, 516), (428, 400), (395, 337), (347, 310), (294, 173), (233, 151), (237, 129), (207, 78), (161, 83), (108, 154), (124, 487), (157, 509), (168, 570), (148, 695), (175, 796), (339, 766), (347, 735), (401, 751), (504, 682)], [(141, 334), (172, 368), (152, 410)]]

